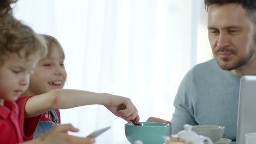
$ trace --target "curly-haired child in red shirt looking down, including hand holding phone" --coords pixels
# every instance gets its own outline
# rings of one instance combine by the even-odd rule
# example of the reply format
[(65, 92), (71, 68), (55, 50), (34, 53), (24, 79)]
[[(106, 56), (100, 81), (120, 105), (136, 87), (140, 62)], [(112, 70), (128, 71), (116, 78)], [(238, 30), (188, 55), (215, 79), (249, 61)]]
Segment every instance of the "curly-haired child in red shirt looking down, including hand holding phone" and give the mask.
[[(4, 2), (1, 1), (1, 2)], [(1, 9), (2, 11), (2, 9)], [(24, 142), (19, 127), (19, 110), (14, 102), (28, 88), (30, 75), (39, 58), (45, 55), (43, 39), (9, 14), (0, 17), (0, 142)], [(20, 107), (25, 109), (25, 107)], [(38, 121), (37, 118), (31, 120)], [(25, 120), (26, 121), (26, 120)], [(36, 127), (31, 127), (33, 131)], [(26, 143), (93, 143), (94, 139), (75, 137), (71, 124), (58, 125)]]

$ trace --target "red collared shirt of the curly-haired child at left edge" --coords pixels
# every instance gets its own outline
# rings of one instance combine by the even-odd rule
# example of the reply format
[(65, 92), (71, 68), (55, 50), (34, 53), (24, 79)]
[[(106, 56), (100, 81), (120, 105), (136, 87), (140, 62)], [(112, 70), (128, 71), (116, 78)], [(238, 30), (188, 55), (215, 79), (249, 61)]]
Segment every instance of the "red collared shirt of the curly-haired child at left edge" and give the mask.
[(0, 142), (23, 142), (18, 121), (18, 106), (12, 101), (4, 101), (0, 105)]

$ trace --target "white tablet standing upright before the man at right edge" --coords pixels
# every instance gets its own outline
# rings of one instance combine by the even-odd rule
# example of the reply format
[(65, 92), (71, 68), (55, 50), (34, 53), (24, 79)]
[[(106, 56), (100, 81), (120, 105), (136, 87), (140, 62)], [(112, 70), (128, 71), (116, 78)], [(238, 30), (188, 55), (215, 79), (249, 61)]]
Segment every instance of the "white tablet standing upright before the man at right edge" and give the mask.
[(256, 76), (242, 76), (238, 103), (236, 143), (245, 143), (245, 134), (256, 132)]

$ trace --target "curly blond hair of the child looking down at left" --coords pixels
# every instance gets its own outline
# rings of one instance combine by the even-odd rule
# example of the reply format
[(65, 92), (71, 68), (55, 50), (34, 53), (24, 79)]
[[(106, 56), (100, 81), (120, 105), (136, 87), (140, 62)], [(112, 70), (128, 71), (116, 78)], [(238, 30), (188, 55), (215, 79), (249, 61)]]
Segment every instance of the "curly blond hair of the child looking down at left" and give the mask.
[(11, 15), (0, 19), (0, 64), (8, 57), (9, 53), (25, 51), (25, 58), (31, 54), (39, 53), (44, 57), (47, 53), (44, 39)]

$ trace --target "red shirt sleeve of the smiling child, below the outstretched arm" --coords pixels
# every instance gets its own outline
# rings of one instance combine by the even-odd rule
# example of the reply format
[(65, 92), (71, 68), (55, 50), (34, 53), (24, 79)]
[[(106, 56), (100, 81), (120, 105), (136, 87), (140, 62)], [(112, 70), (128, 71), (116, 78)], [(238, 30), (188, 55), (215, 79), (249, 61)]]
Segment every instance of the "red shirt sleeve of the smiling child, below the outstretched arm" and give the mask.
[(33, 139), (34, 131), (36, 130), (37, 124), (39, 123), (40, 118), (42, 117), (42, 115), (38, 115), (36, 117), (25, 118), (25, 106), (27, 100), (33, 96), (34, 95), (29, 97), (21, 96), (15, 101), (19, 106), (19, 123), (21, 135), (24, 141)]

